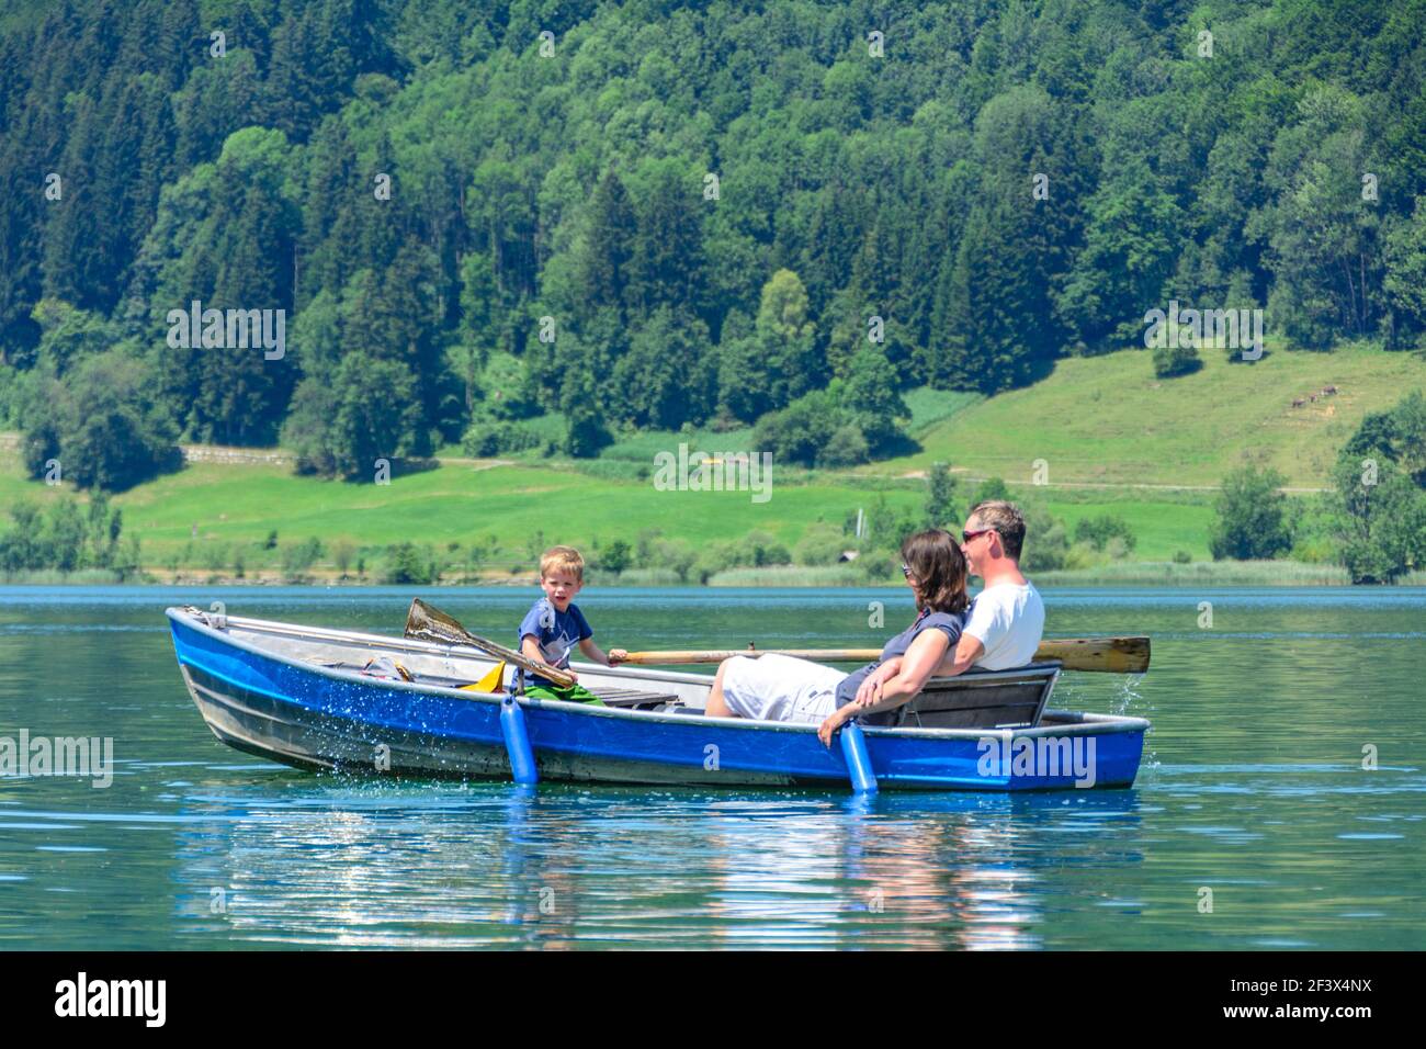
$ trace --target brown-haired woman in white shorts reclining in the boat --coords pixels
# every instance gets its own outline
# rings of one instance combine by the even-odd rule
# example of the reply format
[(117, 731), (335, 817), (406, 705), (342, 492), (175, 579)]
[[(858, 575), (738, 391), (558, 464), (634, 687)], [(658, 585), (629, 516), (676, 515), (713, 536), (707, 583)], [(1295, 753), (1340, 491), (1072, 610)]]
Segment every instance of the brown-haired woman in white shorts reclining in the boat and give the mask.
[[(901, 559), (917, 617), (887, 642), (881, 659), (843, 674), (786, 655), (733, 657), (717, 668), (707, 714), (819, 724), (817, 735), (827, 746), (833, 732), (858, 714), (870, 715), (868, 724), (891, 724), (890, 711), (915, 696), (941, 658), (954, 651), (970, 604), (965, 555), (950, 532), (931, 528), (911, 535), (901, 544)], [(896, 674), (871, 676), (893, 657), (903, 657)]]

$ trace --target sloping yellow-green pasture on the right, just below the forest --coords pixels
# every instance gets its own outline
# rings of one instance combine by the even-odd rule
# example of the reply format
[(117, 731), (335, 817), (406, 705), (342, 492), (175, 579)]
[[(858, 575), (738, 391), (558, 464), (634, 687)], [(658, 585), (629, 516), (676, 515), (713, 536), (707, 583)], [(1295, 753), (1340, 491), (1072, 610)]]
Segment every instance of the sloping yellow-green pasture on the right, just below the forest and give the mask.
[[(1147, 351), (1067, 358), (1032, 387), (963, 404), (917, 432), (923, 451), (863, 470), (904, 472), (943, 461), (978, 477), (1028, 481), (1034, 461), (1045, 460), (1051, 484), (1216, 485), (1251, 451), (1289, 485), (1320, 487), (1366, 412), (1426, 387), (1417, 354), (1268, 347), (1253, 364), (1201, 351), (1201, 371), (1171, 380), (1154, 377)], [(1292, 407), (1329, 384), (1336, 397)]]

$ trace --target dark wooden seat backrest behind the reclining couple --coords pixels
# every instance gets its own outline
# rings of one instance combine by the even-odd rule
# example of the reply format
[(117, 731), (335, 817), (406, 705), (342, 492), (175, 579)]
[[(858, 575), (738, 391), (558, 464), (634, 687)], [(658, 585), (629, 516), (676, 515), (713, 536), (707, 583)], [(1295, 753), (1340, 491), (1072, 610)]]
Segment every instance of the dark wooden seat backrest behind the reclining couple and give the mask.
[(896, 728), (1034, 728), (1060, 678), (1060, 664), (967, 671), (931, 678), (900, 708)]

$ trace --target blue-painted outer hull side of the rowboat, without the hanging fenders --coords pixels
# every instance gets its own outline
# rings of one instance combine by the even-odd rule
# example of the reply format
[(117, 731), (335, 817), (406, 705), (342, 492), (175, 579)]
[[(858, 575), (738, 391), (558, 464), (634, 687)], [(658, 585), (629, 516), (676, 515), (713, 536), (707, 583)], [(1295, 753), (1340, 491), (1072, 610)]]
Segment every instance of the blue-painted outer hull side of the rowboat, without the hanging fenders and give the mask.
[[(168, 615), (190, 695), (230, 746), (308, 769), (455, 779), (512, 775), (499, 695), (334, 671), (262, 651), (183, 609)], [(529, 698), (519, 705), (542, 779), (848, 785), (841, 749), (823, 746), (809, 725)], [(1138, 718), (1051, 711), (1037, 728), (863, 732), (881, 789), (1034, 791), (1132, 785), (1147, 728)], [(1021, 761), (1027, 748), (1030, 761)], [(1047, 759), (1037, 762), (1037, 755)]]

